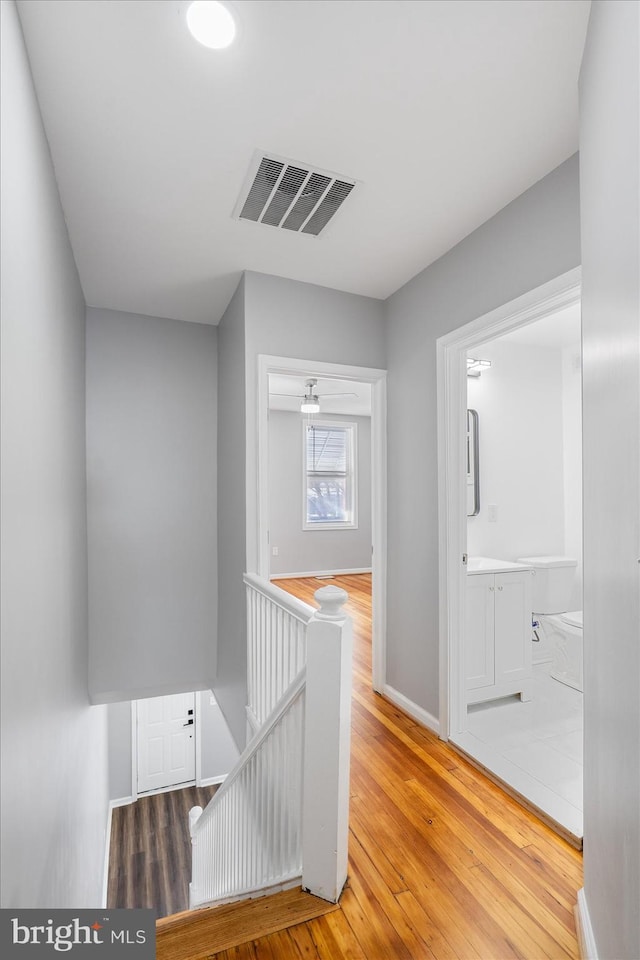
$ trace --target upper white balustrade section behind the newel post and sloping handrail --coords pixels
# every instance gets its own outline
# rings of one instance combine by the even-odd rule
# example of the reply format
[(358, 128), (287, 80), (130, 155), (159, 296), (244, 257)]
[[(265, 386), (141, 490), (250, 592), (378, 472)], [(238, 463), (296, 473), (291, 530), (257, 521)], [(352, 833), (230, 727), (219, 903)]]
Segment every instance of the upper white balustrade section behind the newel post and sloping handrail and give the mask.
[(247, 591), (247, 719), (259, 730), (306, 663), (308, 603), (252, 573)]

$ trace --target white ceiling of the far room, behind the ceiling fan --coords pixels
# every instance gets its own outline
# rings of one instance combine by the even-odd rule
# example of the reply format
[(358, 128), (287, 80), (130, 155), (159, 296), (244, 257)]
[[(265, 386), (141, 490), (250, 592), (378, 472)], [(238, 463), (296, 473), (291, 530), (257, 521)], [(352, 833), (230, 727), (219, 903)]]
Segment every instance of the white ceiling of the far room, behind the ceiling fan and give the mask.
[[(346, 414), (351, 417), (371, 416), (371, 384), (355, 380), (334, 380), (318, 377), (314, 390), (320, 400), (318, 419), (334, 414)], [(300, 402), (306, 390), (307, 377), (289, 374), (269, 374), (269, 409), (289, 410), (300, 413)], [(348, 394), (337, 396), (335, 394)]]

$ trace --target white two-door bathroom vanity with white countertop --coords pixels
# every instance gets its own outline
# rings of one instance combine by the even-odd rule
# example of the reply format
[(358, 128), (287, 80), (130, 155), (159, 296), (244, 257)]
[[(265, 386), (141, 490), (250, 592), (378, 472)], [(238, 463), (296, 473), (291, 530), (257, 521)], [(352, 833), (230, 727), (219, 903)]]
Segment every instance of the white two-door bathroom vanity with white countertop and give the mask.
[(531, 567), (490, 557), (467, 565), (467, 703), (531, 699)]

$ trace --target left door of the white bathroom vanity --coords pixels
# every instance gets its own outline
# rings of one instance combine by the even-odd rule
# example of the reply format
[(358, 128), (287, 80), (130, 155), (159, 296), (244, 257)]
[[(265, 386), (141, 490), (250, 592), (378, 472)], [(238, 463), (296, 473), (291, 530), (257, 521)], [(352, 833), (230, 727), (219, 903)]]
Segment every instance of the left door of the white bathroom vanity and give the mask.
[(465, 679), (467, 690), (495, 683), (494, 575), (467, 577)]

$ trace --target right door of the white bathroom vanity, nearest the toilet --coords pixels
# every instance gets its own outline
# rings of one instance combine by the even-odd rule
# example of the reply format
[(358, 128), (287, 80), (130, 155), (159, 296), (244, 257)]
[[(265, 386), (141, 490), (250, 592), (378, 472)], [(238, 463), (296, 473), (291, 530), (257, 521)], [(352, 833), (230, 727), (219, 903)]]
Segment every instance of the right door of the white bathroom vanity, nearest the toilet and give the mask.
[(495, 580), (496, 683), (531, 676), (531, 574), (500, 573)]

